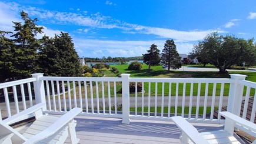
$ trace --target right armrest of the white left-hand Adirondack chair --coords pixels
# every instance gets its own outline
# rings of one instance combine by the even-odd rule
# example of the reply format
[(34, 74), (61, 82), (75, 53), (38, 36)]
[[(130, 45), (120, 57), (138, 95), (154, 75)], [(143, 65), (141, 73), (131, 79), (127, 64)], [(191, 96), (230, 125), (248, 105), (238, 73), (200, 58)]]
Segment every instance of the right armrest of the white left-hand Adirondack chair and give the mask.
[[(25, 143), (36, 143), (42, 139), (45, 139), (54, 133), (56, 133), (59, 129), (63, 126), (67, 125), (67, 123), (71, 122), (72, 119), (75, 118), (79, 113), (82, 112), (81, 108), (74, 108), (71, 109), (69, 112), (65, 113), (65, 115), (61, 116), (56, 122), (54, 122), (51, 126), (43, 130), (42, 132), (38, 133), (35, 136), (32, 136), (30, 139), (26, 140)], [(24, 143), (24, 144), (25, 144)]]

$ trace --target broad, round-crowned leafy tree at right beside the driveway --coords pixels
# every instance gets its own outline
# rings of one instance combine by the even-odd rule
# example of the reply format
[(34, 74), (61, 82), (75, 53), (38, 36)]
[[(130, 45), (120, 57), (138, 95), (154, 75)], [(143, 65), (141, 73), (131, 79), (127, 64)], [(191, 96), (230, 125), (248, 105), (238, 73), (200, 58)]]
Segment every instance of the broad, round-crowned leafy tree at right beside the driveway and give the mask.
[(253, 39), (245, 40), (234, 35), (222, 36), (217, 32), (207, 35), (204, 40), (194, 46), (193, 51), (215, 65), (219, 73), (227, 73), (226, 69), (231, 65), (256, 59)]

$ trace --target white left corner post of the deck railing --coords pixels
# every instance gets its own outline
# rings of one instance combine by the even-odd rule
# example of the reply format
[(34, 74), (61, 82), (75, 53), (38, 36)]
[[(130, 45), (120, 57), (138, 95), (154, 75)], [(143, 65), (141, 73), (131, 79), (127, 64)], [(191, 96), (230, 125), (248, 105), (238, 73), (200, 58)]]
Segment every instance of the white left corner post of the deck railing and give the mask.
[[(36, 78), (34, 82), (34, 89), (35, 89), (35, 103), (45, 103), (45, 88), (44, 88), (44, 81), (39, 80), (44, 76), (44, 73), (34, 73), (32, 74), (33, 78)], [(43, 110), (46, 110), (46, 105), (44, 106)]]

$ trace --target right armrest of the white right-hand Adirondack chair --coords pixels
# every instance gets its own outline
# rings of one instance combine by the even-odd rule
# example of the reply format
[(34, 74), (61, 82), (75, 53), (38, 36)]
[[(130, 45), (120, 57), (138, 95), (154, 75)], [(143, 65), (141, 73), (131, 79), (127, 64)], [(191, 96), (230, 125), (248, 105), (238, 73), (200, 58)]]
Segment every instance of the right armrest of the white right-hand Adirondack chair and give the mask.
[(225, 118), (228, 118), (230, 120), (232, 120), (235, 123), (238, 123), (239, 125), (242, 125), (250, 130), (253, 130), (254, 132), (256, 132), (256, 125), (246, 119), (240, 118), (237, 115), (234, 115), (233, 113), (230, 112), (220, 112), (220, 114), (222, 116), (224, 116)]

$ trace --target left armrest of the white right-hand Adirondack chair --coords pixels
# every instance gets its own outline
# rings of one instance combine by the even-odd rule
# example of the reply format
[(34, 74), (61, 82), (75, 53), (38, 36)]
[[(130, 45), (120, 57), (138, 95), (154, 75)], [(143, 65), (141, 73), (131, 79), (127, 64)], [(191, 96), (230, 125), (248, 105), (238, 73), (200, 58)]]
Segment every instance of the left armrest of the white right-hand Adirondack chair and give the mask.
[[(194, 143), (209, 143), (202, 138), (197, 129), (181, 116), (171, 117), (172, 121), (182, 130), (182, 137), (188, 137)], [(182, 138), (183, 139), (183, 138)]]

